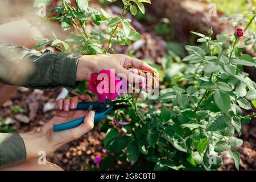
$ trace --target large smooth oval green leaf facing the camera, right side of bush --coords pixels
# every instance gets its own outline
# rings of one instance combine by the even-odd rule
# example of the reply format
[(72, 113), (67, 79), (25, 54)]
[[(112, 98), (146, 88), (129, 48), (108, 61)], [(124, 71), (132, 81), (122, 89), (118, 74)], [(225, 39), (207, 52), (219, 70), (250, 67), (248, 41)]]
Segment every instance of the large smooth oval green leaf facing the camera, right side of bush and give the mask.
[(215, 90), (213, 98), (218, 108), (224, 113), (228, 113), (231, 105), (229, 94), (222, 90)]

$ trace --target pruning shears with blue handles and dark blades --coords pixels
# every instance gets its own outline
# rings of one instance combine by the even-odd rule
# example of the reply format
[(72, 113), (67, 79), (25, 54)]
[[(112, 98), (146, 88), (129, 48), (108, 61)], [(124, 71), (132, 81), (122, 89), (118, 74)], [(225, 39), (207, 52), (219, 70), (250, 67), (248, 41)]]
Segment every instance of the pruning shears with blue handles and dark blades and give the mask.
[[(100, 121), (106, 118), (106, 115), (111, 113), (112, 111), (115, 111), (118, 109), (124, 109), (131, 106), (127, 104), (119, 104), (121, 102), (129, 102), (129, 101), (120, 100), (120, 101), (112, 101), (112, 102), (99, 102), (99, 101), (85, 102), (85, 103), (79, 103), (75, 110), (89, 110), (89, 111), (93, 110), (95, 111), (94, 121)], [(59, 125), (53, 125), (53, 131), (63, 131), (63, 130), (73, 129), (74, 127), (81, 125), (81, 123), (84, 122), (84, 118), (85, 116), (75, 119), (73, 121), (61, 123)]]

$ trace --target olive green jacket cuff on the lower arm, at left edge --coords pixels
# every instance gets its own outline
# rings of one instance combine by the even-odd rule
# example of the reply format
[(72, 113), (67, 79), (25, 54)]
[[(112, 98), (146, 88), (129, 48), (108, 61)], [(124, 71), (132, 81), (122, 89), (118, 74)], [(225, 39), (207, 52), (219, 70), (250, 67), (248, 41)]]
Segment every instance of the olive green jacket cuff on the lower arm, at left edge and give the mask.
[(0, 168), (26, 160), (26, 148), (18, 133), (0, 133)]

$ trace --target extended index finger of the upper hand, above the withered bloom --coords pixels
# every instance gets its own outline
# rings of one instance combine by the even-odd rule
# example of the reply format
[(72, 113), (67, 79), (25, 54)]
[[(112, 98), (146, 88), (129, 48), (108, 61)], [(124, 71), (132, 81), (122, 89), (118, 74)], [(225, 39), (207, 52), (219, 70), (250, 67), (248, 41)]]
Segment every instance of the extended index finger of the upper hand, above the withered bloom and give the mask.
[(156, 69), (152, 68), (150, 65), (148, 65), (144, 61), (139, 60), (139, 59), (135, 59), (133, 57), (128, 57), (125, 60), (125, 63), (123, 64), (123, 67), (127, 67), (129, 65), (131, 65), (135, 68), (139, 68), (139, 69), (143, 69), (143, 70), (146, 70), (146, 71), (152, 71), (152, 72), (158, 73), (158, 71), (156, 71)]

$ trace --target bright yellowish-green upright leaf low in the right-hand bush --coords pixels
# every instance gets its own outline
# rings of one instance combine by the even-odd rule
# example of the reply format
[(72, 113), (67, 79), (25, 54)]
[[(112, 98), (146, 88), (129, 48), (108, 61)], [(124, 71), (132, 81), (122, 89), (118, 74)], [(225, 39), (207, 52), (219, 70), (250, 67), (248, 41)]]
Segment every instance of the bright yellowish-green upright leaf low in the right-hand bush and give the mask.
[(208, 146), (207, 135), (204, 130), (195, 130), (193, 133), (193, 143), (196, 150), (202, 154)]

